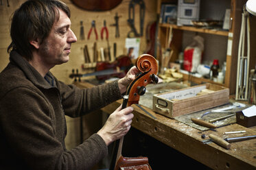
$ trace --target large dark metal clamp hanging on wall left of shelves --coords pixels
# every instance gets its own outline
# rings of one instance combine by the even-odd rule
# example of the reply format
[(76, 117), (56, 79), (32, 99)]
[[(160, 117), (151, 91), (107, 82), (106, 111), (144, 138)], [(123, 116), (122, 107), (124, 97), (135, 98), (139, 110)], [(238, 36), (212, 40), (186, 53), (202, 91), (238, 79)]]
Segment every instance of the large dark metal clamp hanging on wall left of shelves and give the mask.
[[(140, 33), (137, 32), (135, 28), (135, 5), (139, 5), (139, 24), (140, 24)], [(145, 3), (143, 0), (131, 0), (129, 3), (129, 19), (128, 24), (132, 30), (128, 32), (128, 38), (143, 36), (143, 24), (145, 17)]]

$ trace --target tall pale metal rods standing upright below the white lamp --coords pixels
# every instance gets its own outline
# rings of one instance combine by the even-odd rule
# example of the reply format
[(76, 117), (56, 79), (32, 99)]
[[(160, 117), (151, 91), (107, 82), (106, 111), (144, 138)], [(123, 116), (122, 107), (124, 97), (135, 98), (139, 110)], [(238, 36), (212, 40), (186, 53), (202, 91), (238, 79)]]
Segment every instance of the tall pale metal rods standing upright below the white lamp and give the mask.
[[(240, 31), (240, 40), (238, 46), (237, 56), (237, 82), (235, 89), (236, 100), (247, 100), (248, 99), (248, 73), (250, 63), (250, 21), (249, 13), (246, 11), (244, 6), (242, 13), (242, 24)], [(244, 56), (245, 46), (245, 35), (247, 32), (247, 56)], [(244, 80), (244, 81), (243, 81)]]

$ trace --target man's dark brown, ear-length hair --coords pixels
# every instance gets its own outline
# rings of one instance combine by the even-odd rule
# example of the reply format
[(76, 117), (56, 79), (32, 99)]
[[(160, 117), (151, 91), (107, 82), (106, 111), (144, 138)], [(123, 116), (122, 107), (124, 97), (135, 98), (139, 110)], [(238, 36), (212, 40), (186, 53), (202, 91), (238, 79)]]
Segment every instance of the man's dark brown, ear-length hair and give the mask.
[(18, 8), (12, 16), (10, 36), (12, 42), (8, 53), (16, 50), (27, 60), (32, 60), (30, 40), (40, 40), (40, 43), (49, 36), (51, 27), (58, 21), (58, 9), (64, 11), (70, 18), (69, 7), (59, 0), (28, 0)]

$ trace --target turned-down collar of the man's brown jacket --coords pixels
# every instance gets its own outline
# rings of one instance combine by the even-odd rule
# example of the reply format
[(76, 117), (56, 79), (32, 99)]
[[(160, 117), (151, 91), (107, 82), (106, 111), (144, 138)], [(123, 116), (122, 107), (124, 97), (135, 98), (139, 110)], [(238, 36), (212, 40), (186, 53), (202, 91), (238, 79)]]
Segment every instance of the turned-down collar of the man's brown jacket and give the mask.
[(10, 53), (10, 62), (19, 66), (21, 71), (25, 74), (28, 80), (30, 80), (35, 86), (42, 88), (51, 88), (56, 87), (56, 81), (54, 75), (51, 72), (48, 72), (45, 77), (42, 77), (34, 67), (25, 60), (17, 51), (11, 51)]

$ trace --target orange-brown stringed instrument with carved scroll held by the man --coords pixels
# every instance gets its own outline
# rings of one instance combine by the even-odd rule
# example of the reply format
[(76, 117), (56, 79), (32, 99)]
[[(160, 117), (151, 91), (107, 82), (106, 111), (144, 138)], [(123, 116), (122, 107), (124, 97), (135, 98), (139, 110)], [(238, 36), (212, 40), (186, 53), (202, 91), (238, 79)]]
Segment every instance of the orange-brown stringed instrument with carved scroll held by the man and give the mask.
[[(139, 56), (136, 60), (136, 66), (141, 73), (139, 73), (135, 80), (128, 86), (126, 95), (124, 95), (122, 109), (131, 106), (132, 104), (139, 104), (139, 96), (146, 92), (146, 86), (151, 82), (158, 82), (156, 74), (158, 73), (159, 67), (153, 56), (149, 54)], [(113, 157), (110, 162), (110, 170), (152, 170), (148, 163), (148, 158), (146, 157), (127, 158), (121, 156), (123, 141), (124, 138), (115, 141)]]

